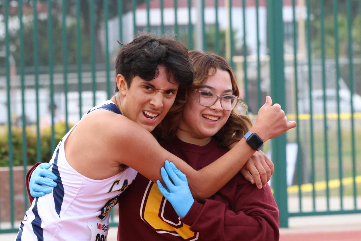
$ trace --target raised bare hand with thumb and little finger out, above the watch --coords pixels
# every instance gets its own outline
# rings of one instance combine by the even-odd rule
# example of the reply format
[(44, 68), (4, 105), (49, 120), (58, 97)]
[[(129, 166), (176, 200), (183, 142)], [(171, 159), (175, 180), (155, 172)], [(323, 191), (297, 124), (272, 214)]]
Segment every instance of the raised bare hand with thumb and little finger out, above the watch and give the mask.
[(270, 96), (266, 97), (265, 104), (258, 110), (255, 124), (251, 132), (257, 133), (265, 142), (296, 127), (295, 121), (288, 121), (279, 104), (272, 105)]

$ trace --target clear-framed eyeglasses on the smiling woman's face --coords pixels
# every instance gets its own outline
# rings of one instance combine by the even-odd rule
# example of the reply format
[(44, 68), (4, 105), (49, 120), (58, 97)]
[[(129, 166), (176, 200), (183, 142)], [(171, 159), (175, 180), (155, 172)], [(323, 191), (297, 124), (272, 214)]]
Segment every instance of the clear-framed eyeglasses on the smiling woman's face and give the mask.
[(203, 106), (212, 106), (218, 99), (221, 99), (221, 106), (223, 110), (233, 110), (240, 100), (240, 98), (235, 95), (218, 96), (213, 92), (201, 91), (198, 89), (196, 89), (195, 92), (198, 93), (199, 104)]

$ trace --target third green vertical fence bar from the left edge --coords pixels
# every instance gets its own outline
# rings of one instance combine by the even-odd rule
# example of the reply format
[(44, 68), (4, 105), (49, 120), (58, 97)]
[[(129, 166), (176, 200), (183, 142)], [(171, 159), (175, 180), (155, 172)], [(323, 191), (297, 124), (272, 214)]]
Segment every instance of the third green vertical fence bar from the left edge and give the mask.
[(40, 126), (39, 126), (39, 44), (38, 44), (38, 10), (36, 9), (38, 0), (34, 0), (32, 11), (34, 14), (34, 30), (33, 30), (33, 44), (34, 44), (34, 78), (35, 78), (35, 99), (36, 99), (36, 161), (42, 161), (41, 142), (40, 142)]

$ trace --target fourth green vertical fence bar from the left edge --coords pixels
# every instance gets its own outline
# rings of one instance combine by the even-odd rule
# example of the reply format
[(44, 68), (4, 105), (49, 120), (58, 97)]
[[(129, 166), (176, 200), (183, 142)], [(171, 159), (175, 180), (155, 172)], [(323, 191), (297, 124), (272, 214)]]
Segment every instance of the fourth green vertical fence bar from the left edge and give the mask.
[(55, 130), (54, 130), (54, 51), (53, 51), (53, 19), (51, 14), (52, 0), (47, 0), (48, 4), (48, 64), (49, 64), (49, 79), (50, 79), (50, 113), (51, 113), (51, 153), (55, 150)]

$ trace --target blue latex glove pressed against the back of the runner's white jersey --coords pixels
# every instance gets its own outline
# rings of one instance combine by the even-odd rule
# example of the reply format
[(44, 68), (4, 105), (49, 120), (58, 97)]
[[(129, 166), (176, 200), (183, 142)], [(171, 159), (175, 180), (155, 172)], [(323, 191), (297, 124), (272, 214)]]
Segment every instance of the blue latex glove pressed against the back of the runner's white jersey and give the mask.
[[(53, 174), (51, 171), (47, 170), (50, 167), (49, 163), (42, 163), (32, 172), (30, 181), (29, 181), (29, 189), (30, 195), (33, 197), (42, 197), (45, 193), (51, 193), (51, 188), (48, 187), (56, 187), (56, 183), (52, 180), (58, 179), (58, 177)], [(46, 179), (50, 178), (52, 180)], [(44, 187), (42, 185), (48, 186)]]

